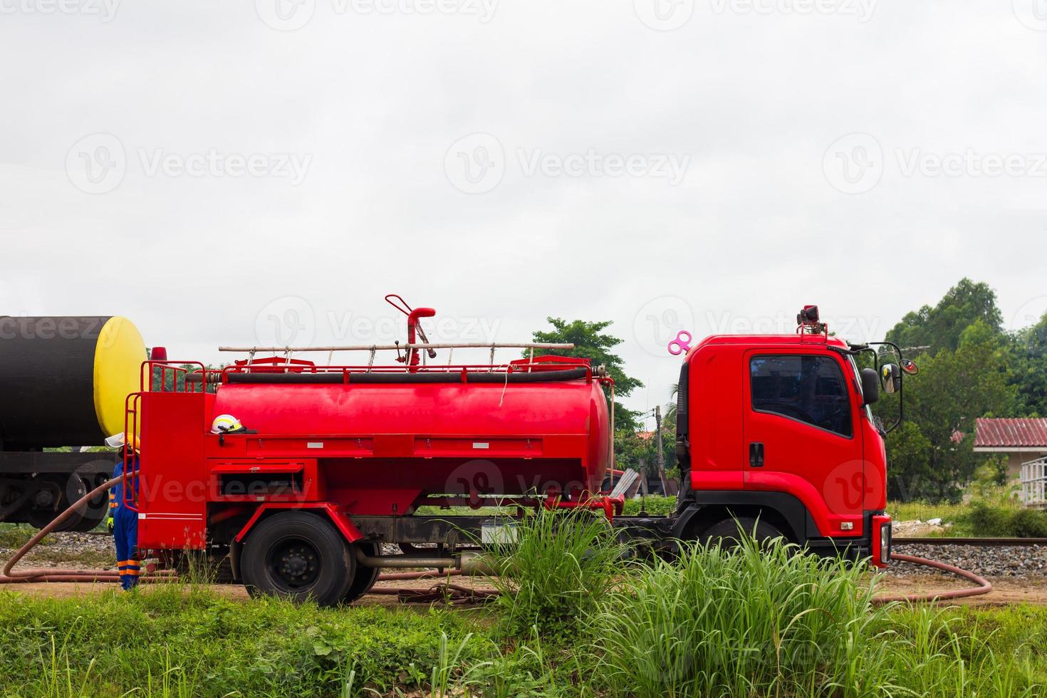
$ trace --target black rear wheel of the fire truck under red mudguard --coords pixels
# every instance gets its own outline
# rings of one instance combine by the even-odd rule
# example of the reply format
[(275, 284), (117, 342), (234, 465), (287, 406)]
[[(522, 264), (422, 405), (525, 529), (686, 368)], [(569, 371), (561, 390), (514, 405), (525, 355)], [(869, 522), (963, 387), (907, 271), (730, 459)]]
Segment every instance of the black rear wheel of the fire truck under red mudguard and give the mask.
[(244, 543), (241, 573), (251, 595), (289, 596), (334, 606), (356, 572), (350, 546), (333, 525), (305, 512), (262, 521)]

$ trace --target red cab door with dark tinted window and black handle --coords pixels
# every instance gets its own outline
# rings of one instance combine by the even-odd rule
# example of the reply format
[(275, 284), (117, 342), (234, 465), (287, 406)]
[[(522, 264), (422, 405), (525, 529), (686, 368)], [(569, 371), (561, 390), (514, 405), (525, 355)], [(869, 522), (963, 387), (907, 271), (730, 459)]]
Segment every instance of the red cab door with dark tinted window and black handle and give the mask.
[(796, 496), (821, 536), (862, 533), (860, 403), (847, 369), (824, 347), (745, 354), (744, 487)]

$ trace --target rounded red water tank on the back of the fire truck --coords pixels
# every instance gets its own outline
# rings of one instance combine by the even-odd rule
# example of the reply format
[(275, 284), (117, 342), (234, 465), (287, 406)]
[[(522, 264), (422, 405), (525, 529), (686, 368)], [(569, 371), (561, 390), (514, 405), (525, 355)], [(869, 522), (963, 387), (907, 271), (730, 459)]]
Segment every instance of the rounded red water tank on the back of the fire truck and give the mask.
[(599, 492), (608, 467), (607, 400), (580, 360), (508, 373), (232, 370), (219, 414), (258, 435), (214, 436), (211, 463), (315, 458), (317, 491), (357, 515), (448, 496), (577, 499)]

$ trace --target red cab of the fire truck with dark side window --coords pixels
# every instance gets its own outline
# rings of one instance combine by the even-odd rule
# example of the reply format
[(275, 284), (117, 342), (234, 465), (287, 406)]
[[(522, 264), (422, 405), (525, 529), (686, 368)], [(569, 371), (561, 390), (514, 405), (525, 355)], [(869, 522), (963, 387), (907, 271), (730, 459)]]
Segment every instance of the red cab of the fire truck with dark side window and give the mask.
[(715, 335), (688, 350), (677, 392), (675, 537), (758, 525), (758, 537), (887, 563), (887, 457), (869, 408), (877, 374), (863, 377), (854, 354), (802, 327), (795, 335)]

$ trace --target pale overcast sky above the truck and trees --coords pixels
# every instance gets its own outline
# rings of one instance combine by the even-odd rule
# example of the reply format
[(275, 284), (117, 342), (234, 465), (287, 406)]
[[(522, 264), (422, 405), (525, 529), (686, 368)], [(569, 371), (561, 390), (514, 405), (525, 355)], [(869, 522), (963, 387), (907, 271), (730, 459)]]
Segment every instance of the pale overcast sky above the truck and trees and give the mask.
[(612, 320), (644, 409), (680, 330), (1047, 309), (1044, 0), (0, 0), (0, 313), (172, 358), (391, 341), (397, 292)]

